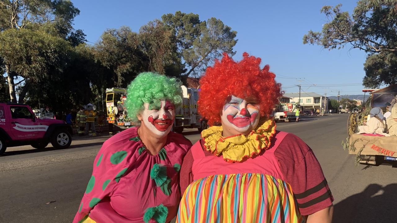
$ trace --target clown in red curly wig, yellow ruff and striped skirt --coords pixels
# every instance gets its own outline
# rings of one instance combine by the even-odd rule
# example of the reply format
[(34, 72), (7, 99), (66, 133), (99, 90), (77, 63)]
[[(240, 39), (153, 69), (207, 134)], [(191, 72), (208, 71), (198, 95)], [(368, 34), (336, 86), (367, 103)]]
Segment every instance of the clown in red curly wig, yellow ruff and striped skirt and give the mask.
[(300, 138), (276, 131), (281, 85), (260, 62), (224, 54), (200, 79), (198, 112), (214, 126), (183, 160), (177, 223), (331, 222), (320, 164)]

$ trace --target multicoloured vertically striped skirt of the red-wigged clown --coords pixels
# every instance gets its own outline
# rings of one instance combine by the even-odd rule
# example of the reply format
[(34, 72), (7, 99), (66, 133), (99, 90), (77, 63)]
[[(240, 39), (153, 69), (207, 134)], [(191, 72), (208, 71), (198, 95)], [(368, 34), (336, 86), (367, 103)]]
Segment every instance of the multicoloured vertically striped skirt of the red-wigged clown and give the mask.
[(301, 223), (291, 186), (270, 175), (212, 175), (182, 196), (177, 223)]

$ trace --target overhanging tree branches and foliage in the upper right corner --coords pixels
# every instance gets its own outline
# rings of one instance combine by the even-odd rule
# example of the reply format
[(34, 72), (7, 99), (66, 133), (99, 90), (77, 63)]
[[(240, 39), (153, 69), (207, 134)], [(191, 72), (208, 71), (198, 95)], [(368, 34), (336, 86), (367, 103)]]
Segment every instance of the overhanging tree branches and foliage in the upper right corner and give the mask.
[(368, 88), (397, 83), (396, 0), (360, 0), (353, 14), (341, 10), (341, 4), (324, 6), (321, 13), (328, 22), (321, 32), (309, 31), (303, 44), (341, 49), (347, 44), (368, 53), (363, 85)]

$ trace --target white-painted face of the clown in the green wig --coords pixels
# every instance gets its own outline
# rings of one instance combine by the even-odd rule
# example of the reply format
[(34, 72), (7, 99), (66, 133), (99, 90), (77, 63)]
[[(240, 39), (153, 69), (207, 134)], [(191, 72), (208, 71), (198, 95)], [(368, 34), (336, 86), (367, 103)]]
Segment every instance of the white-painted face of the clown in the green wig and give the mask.
[(170, 101), (158, 100), (151, 104), (144, 103), (143, 106), (145, 109), (138, 115), (141, 125), (155, 135), (168, 135), (175, 119), (174, 105)]

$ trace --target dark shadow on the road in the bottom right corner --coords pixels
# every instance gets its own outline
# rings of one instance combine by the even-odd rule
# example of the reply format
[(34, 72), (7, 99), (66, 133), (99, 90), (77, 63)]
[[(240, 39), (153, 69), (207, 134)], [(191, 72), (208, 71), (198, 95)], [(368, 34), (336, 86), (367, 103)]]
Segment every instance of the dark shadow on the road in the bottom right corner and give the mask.
[(334, 205), (332, 223), (396, 222), (397, 183), (382, 187), (368, 185)]

